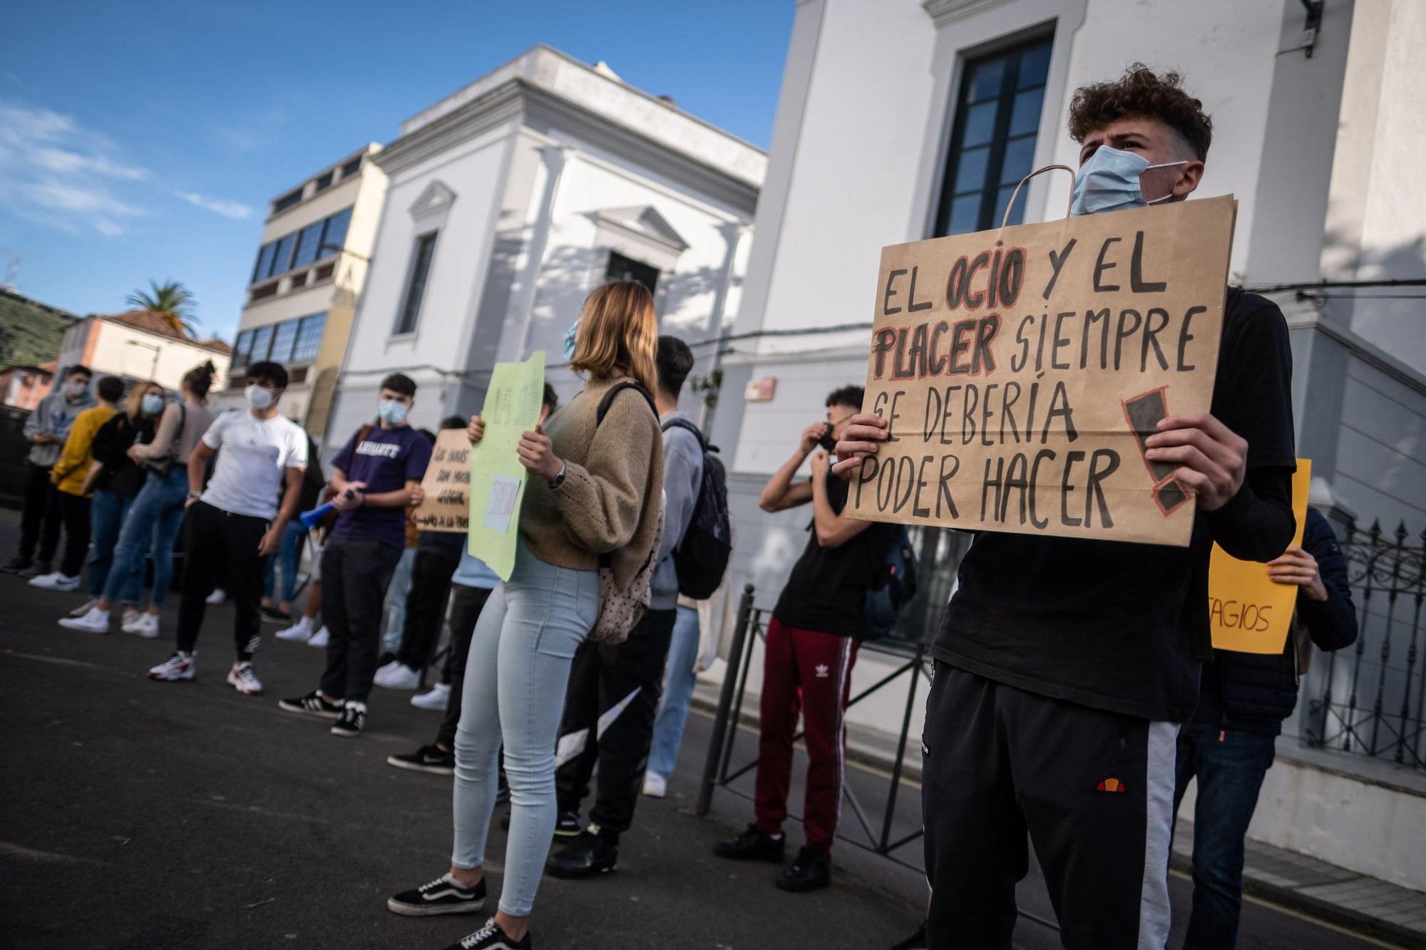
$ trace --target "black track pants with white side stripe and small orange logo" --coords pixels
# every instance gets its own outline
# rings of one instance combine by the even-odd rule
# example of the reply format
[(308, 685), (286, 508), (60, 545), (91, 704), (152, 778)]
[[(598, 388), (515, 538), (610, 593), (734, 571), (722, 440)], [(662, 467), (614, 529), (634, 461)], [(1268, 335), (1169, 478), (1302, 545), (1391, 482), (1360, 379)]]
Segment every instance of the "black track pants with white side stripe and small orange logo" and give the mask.
[(1010, 950), (1028, 834), (1068, 950), (1162, 950), (1176, 736), (937, 662), (921, 740), (928, 946)]

